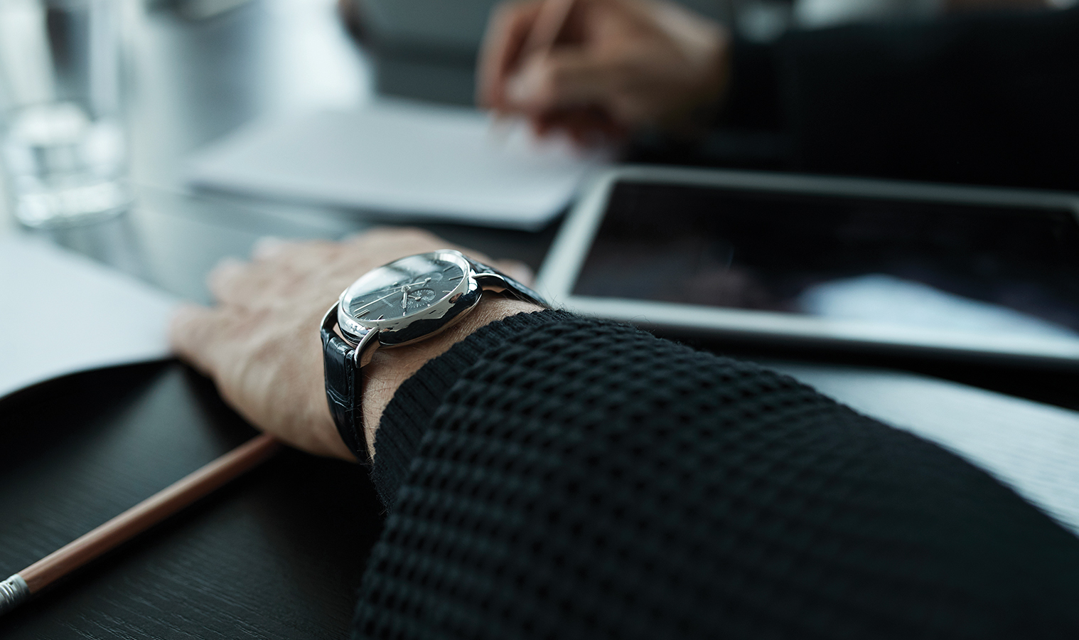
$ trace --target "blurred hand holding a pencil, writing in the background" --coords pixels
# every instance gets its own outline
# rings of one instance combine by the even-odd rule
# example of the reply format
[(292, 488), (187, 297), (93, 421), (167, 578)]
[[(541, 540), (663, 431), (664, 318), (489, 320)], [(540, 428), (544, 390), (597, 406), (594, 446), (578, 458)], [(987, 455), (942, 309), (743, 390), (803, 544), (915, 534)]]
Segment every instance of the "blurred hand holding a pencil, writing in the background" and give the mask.
[(661, 0), (577, 0), (549, 51), (525, 51), (543, 0), (492, 13), (477, 101), (522, 113), (541, 135), (587, 140), (655, 125), (680, 128), (727, 83), (724, 27)]

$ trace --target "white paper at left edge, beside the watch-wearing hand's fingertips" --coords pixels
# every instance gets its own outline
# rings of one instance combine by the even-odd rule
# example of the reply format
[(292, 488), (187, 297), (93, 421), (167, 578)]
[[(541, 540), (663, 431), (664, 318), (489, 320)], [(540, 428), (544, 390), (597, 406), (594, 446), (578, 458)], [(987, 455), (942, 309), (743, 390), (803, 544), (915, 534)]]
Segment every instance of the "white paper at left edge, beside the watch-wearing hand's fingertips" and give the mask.
[(51, 243), (0, 237), (0, 397), (65, 373), (168, 355), (178, 300)]

